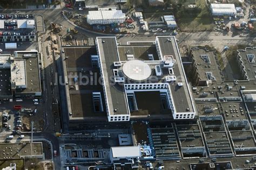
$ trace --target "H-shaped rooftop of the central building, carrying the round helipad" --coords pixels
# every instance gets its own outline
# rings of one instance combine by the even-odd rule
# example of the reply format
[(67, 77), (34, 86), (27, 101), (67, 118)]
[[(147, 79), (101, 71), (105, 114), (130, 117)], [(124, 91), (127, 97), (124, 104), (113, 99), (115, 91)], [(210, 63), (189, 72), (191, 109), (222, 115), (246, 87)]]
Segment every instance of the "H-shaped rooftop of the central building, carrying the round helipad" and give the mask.
[[(169, 86), (166, 86), (165, 88), (168, 90), (170, 88), (171, 90), (170, 98), (172, 98), (174, 110), (177, 113), (195, 112), (193, 107), (193, 100), (187, 84), (181, 58), (179, 56), (176, 39), (173, 36), (157, 37), (156, 42), (157, 45), (117, 45), (115, 37), (97, 37), (97, 49), (101, 63), (101, 73), (103, 75), (105, 86), (104, 94), (106, 95), (106, 103), (109, 107), (110, 115), (129, 114), (129, 106), (127, 104), (124, 84), (129, 84), (128, 86), (133, 86), (132, 90), (136, 90), (135, 87), (137, 86), (145, 86), (142, 88), (150, 89), (150, 83), (156, 83), (163, 86), (164, 84), (165, 86), (166, 84), (169, 84)], [(159, 46), (161, 56), (158, 56), (157, 46)], [(149, 57), (149, 55), (152, 56)], [(151, 60), (154, 60), (154, 62)], [(170, 64), (170, 72), (169, 67), (165, 67), (164, 63), (172, 61), (174, 64), (172, 66)], [(122, 64), (120, 66), (114, 66), (114, 62), (121, 62)], [(157, 72), (155, 71), (157, 66), (160, 67), (159, 70), (162, 72), (160, 76), (157, 75)], [(114, 71), (116, 71), (115, 75), (117, 74), (117, 76), (114, 76)], [(169, 81), (167, 82), (165, 78), (166, 76), (170, 76), (170, 74), (173, 74), (175, 77), (177, 77), (177, 81), (174, 83), (168, 83)], [(122, 83), (118, 83), (116, 80), (114, 80), (114, 77), (118, 77), (119, 79), (122, 78)], [(156, 114), (157, 112), (160, 112), (160, 114), (161, 112), (167, 114), (167, 112), (161, 111), (160, 104), (158, 104), (159, 102), (152, 103), (154, 104), (152, 109), (145, 109), (143, 106), (145, 105), (143, 104), (145, 102), (140, 101), (140, 98), (142, 97), (140, 97), (138, 94), (139, 93), (135, 95), (135, 98), (139, 99), (139, 107), (142, 107), (142, 109), (138, 109), (138, 111), (136, 110), (135, 112), (132, 111), (131, 114), (149, 115)], [(154, 99), (159, 98), (157, 93), (145, 93), (143, 95), (151, 95), (153, 98), (156, 97)], [(181, 117), (182, 116), (180, 116), (180, 118)], [(188, 115), (186, 118), (191, 117)]]

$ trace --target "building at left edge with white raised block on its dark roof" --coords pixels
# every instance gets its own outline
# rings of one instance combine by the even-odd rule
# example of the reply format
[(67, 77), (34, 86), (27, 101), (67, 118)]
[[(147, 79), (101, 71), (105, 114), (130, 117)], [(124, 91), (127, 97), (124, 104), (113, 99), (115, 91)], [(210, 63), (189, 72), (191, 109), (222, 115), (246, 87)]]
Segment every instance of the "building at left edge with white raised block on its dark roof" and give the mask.
[(38, 52), (15, 51), (0, 55), (1, 99), (41, 96)]

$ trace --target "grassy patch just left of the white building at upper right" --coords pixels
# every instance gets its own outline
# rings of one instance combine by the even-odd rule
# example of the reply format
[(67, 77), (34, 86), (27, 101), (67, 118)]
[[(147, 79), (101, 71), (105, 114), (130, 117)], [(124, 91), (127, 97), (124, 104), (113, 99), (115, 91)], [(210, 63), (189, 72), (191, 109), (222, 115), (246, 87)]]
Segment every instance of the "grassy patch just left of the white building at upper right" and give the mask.
[(196, 4), (198, 10), (179, 9), (176, 15), (179, 28), (182, 31), (212, 30), (214, 24), (205, 0), (197, 0)]

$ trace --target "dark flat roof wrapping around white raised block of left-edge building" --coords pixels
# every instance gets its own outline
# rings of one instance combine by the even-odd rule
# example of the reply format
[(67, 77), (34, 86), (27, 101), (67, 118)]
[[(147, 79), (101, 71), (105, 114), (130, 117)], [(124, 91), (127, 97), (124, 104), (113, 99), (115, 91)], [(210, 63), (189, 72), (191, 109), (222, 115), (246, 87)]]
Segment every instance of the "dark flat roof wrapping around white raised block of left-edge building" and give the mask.
[[(24, 60), (26, 74), (26, 88), (17, 89), (16, 93), (34, 93), (41, 92), (41, 81), (39, 73), (39, 62), (37, 51), (15, 51), (14, 60), (11, 60), (12, 66), (16, 60)], [(26, 55), (24, 57), (24, 55)], [(12, 68), (11, 68), (12, 69)]]

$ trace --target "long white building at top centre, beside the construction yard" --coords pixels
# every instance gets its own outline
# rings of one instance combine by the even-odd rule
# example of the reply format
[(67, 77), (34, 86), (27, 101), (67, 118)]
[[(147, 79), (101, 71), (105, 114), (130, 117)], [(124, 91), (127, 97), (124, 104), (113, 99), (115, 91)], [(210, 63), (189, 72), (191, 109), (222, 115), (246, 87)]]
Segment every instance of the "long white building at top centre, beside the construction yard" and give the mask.
[(125, 13), (122, 10), (99, 10), (89, 11), (87, 15), (87, 23), (93, 24), (112, 24), (112, 23), (123, 23), (125, 21)]

